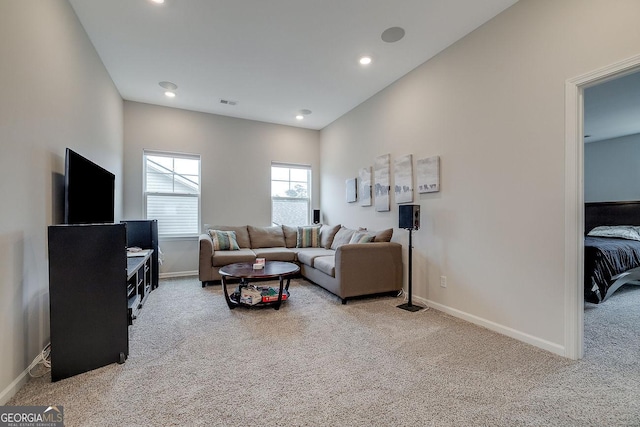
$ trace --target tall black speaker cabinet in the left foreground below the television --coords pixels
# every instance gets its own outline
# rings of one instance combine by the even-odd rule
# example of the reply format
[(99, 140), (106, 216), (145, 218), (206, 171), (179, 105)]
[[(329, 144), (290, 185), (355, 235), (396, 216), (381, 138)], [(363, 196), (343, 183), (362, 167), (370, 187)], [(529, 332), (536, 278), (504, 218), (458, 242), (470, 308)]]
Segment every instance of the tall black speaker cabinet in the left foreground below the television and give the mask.
[(129, 355), (124, 224), (49, 227), (51, 380)]

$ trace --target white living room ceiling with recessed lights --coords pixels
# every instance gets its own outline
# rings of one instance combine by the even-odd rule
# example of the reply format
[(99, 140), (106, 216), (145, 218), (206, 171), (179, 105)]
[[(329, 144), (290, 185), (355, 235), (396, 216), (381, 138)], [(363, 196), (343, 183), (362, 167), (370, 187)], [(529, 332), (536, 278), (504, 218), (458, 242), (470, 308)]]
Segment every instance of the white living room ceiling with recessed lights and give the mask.
[(322, 129), (516, 0), (70, 3), (124, 99)]

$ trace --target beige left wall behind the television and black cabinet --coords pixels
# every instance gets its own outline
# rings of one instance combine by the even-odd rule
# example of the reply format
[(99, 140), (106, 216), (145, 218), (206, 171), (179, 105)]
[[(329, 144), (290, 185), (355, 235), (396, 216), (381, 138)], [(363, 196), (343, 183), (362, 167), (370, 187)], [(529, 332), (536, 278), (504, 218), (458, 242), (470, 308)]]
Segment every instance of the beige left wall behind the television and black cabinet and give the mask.
[[(63, 219), (65, 148), (116, 175), (122, 99), (66, 0), (0, 2), (0, 404), (49, 341), (47, 227)], [(46, 402), (43, 402), (46, 403)]]

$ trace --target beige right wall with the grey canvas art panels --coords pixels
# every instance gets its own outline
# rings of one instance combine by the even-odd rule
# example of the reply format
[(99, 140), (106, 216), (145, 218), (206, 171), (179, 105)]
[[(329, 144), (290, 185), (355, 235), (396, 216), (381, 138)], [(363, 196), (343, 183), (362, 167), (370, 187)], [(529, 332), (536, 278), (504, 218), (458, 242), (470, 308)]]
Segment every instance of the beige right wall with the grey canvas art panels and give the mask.
[(440, 192), (414, 177), (414, 296), (563, 354), (565, 82), (637, 55), (638, 16), (635, 0), (520, 0), (321, 131), (323, 213), (397, 227), (393, 197), (376, 212), (335, 195), (377, 156), (440, 156)]

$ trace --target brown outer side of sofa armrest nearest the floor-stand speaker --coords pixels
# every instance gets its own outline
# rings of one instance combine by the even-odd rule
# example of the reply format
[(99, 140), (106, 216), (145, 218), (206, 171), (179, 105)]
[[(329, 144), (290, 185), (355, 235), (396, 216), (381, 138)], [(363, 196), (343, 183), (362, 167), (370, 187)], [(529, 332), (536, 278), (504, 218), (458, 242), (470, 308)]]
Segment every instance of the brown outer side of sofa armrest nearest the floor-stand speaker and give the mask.
[(402, 245), (395, 242), (351, 243), (336, 249), (335, 277), (340, 296), (402, 289)]

